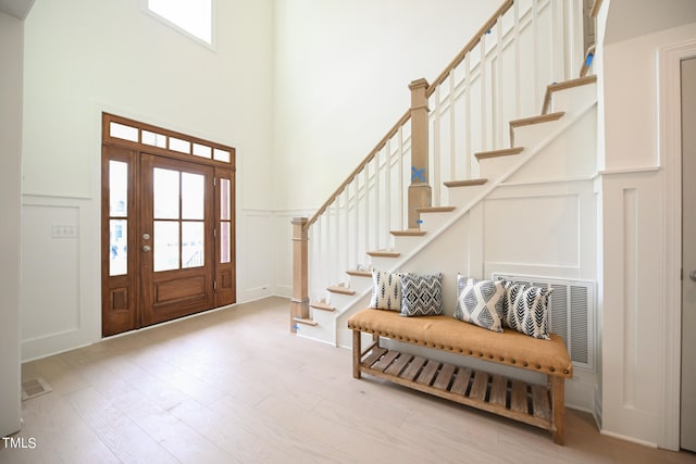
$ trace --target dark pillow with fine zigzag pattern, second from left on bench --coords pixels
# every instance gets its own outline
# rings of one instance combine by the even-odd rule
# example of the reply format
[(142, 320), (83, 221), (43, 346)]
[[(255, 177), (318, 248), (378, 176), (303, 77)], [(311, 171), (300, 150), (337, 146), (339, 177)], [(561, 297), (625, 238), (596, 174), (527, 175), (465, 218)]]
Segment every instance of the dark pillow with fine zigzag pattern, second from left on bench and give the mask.
[(401, 315), (443, 314), (443, 274), (401, 275)]

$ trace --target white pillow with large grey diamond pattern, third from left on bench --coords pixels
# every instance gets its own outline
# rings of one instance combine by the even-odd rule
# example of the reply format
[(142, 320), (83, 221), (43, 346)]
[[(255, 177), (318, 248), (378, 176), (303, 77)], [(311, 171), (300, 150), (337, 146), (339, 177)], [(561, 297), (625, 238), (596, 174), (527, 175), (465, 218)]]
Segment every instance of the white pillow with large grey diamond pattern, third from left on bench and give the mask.
[(458, 275), (455, 318), (492, 331), (502, 331), (505, 284), (502, 280), (476, 280)]

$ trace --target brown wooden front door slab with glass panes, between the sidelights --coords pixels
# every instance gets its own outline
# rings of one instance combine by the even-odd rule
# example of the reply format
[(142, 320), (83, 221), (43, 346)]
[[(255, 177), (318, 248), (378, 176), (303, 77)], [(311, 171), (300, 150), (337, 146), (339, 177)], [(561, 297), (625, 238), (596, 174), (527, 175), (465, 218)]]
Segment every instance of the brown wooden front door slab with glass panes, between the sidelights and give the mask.
[(144, 326), (213, 308), (213, 168), (140, 156)]

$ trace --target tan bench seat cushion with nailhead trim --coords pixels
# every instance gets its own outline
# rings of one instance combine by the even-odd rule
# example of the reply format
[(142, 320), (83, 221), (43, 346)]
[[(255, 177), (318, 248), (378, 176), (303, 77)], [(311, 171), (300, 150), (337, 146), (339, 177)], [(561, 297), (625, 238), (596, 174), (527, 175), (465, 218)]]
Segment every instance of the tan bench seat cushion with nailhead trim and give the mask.
[(573, 376), (566, 343), (556, 334), (550, 340), (539, 340), (511, 329), (490, 331), (448, 315), (403, 317), (372, 309), (350, 316), (348, 328), (542, 374)]

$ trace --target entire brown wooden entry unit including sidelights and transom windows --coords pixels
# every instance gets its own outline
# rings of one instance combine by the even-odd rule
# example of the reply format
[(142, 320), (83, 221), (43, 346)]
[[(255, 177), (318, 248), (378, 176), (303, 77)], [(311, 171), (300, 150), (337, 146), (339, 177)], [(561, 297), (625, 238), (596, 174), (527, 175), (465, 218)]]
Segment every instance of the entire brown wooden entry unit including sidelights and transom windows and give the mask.
[[(136, 124), (104, 118), (102, 335), (234, 303), (234, 159), (224, 154), (233, 149), (215, 148), (215, 160), (209, 147), (201, 162), (202, 141), (173, 151), (174, 135), (151, 126), (130, 136), (116, 127), (132, 138), (120, 139), (111, 122)], [(144, 147), (152, 130), (164, 141)]]

